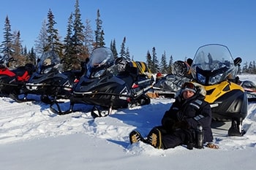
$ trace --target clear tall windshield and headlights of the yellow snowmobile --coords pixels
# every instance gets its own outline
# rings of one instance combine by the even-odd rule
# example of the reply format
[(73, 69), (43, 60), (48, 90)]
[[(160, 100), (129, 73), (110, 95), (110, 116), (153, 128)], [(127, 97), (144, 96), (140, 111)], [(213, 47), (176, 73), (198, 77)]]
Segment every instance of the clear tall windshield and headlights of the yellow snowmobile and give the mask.
[(238, 70), (230, 50), (217, 44), (199, 47), (191, 68), (192, 77), (202, 85), (214, 85), (236, 77)]

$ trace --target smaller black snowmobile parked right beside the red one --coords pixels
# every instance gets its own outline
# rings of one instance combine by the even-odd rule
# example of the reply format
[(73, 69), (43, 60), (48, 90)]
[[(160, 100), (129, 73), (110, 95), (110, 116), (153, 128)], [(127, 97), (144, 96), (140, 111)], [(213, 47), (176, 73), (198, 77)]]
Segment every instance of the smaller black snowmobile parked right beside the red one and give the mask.
[(74, 80), (62, 72), (59, 55), (54, 51), (42, 54), (37, 63), (37, 71), (31, 75), (23, 89), (22, 98), (16, 96), (16, 101), (29, 101), (29, 94), (40, 96), (42, 102), (51, 104), (58, 98), (69, 98)]

